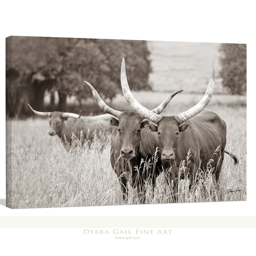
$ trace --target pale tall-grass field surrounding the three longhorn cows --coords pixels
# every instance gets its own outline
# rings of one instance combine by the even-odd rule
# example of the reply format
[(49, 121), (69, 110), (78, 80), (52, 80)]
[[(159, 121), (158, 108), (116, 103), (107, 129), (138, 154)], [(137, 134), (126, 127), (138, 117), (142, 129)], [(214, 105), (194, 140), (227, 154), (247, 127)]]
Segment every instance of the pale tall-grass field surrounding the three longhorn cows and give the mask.
[[(155, 108), (168, 93), (138, 92), (135, 97), (148, 108)], [(180, 93), (169, 103), (164, 115), (180, 113), (201, 99), (199, 94)], [(130, 109), (123, 97), (113, 106)], [(227, 123), (226, 149), (239, 157), (239, 164), (225, 155), (218, 187), (210, 175), (201, 179), (191, 190), (188, 182), (179, 185), (177, 202), (246, 200), (246, 98), (244, 96), (214, 95), (207, 109), (218, 113)], [(111, 138), (95, 138), (87, 145), (64, 149), (58, 137), (47, 133), (48, 119), (7, 121), (6, 186), (7, 205), (12, 208), (67, 207), (89, 205), (137, 204), (136, 190), (129, 189), (123, 201), (119, 181), (110, 164)], [(10, 128), (11, 126), (11, 128)], [(11, 131), (11, 132), (10, 132)], [(227, 189), (241, 191), (225, 194)], [(172, 189), (166, 185), (164, 174), (157, 178), (153, 194), (147, 186), (148, 204), (172, 203)]]

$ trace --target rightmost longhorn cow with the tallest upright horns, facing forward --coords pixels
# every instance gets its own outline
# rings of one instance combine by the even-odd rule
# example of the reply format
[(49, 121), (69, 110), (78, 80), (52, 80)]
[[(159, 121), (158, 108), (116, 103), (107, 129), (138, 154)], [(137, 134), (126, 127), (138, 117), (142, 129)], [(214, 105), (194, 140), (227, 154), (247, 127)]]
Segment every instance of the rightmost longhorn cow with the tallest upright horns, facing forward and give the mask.
[[(160, 155), (163, 168), (169, 170), (174, 184), (177, 185), (178, 177), (182, 179), (184, 173), (179, 175), (179, 166), (182, 160), (186, 160), (190, 150), (190, 162), (187, 163), (187, 171), (192, 184), (198, 179), (198, 169), (207, 168), (210, 159), (213, 174), (216, 180), (221, 171), (224, 160), (226, 145), (226, 123), (217, 114), (210, 111), (203, 111), (209, 103), (215, 84), (215, 72), (212, 64), (212, 72), (209, 84), (204, 97), (197, 105), (176, 116), (162, 116), (143, 107), (131, 94), (126, 72), (125, 60), (122, 61), (121, 68), (122, 91), (129, 105), (140, 113), (144, 118), (157, 125), (147, 124), (145, 129), (157, 132), (160, 145)], [(202, 111), (202, 112), (201, 112)], [(155, 133), (156, 134), (156, 133)], [(219, 150), (216, 150), (219, 148)], [(235, 162), (236, 156), (230, 154)]]

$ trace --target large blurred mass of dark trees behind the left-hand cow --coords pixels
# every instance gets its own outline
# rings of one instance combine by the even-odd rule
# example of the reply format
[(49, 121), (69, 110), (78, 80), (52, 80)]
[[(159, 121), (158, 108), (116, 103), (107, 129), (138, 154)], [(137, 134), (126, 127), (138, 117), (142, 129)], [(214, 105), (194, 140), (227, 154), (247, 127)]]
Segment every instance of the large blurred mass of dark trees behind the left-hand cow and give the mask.
[[(68, 95), (76, 96), (79, 102), (92, 96), (84, 80), (89, 81), (102, 97), (112, 100), (121, 91), (122, 57), (127, 64), (131, 89), (150, 90), (149, 55), (145, 41), (6, 38), (6, 106), (12, 109), (9, 115), (19, 115), (24, 107), (16, 105), (26, 103), (44, 111), (46, 90), (52, 94), (51, 107), (54, 106), (54, 91), (59, 94), (58, 106), (51, 111), (65, 111)], [(20, 102), (23, 94), (26, 96)], [(9, 106), (11, 102), (12, 106)], [(17, 109), (20, 109), (19, 113)]]

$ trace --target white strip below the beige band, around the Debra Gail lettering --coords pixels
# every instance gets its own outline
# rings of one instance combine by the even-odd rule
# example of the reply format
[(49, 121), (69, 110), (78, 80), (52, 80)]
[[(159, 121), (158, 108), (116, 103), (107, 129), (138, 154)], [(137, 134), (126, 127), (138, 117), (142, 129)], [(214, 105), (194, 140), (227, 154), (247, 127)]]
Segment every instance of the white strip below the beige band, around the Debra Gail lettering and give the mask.
[(6, 230), (2, 239), (0, 234), (0, 239), (8, 248), (6, 255), (255, 256), (253, 229), (172, 229), (171, 235), (144, 235), (138, 240), (117, 240), (119, 235), (108, 230), (110, 234), (86, 235), (84, 229), (14, 228)]

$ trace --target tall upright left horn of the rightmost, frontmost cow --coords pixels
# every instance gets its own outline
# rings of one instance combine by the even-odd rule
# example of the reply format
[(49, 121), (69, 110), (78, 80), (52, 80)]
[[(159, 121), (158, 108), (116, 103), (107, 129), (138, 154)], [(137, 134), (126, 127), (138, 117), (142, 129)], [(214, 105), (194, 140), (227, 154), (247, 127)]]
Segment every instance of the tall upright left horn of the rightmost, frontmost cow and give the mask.
[(122, 92), (125, 96), (126, 101), (129, 103), (129, 105), (140, 115), (142, 115), (144, 118), (150, 120), (151, 122), (158, 123), (162, 116), (160, 116), (157, 113), (154, 113), (147, 108), (145, 108), (143, 105), (141, 105), (137, 100), (134, 98), (134, 96), (131, 94), (131, 90), (128, 85), (126, 72), (125, 72), (125, 58), (122, 59), (122, 66), (121, 66), (121, 85), (122, 85)]

